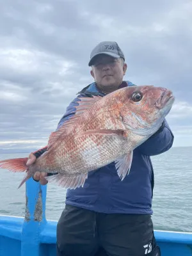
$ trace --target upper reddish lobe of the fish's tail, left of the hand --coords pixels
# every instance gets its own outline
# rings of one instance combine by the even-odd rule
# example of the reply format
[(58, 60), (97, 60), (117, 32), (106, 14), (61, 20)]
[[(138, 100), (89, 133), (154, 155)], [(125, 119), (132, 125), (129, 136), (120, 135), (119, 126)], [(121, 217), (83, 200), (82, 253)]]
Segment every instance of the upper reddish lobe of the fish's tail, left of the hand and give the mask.
[(3, 161), (0, 161), (0, 168), (7, 169), (12, 172), (24, 172), (28, 168), (26, 166), (27, 161), (28, 161), (28, 157), (6, 159)]

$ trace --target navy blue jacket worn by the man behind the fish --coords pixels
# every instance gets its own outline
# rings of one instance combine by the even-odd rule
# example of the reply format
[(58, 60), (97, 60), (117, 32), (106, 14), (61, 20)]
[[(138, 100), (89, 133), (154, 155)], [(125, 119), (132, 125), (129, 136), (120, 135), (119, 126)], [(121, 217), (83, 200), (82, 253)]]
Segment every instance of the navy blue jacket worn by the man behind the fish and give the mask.
[[(129, 81), (124, 81), (122, 84), (134, 85)], [(79, 95), (84, 97), (84, 93), (105, 95), (99, 92), (95, 83), (84, 88)], [(61, 118), (58, 128), (74, 115), (74, 106), (77, 105), (76, 98), (67, 107), (67, 112)], [(124, 180), (120, 180), (115, 163), (111, 163), (88, 173), (83, 188), (68, 189), (65, 203), (96, 212), (152, 214), (154, 171), (150, 156), (166, 152), (172, 144), (173, 134), (164, 120), (163, 127), (134, 150), (131, 171)]]

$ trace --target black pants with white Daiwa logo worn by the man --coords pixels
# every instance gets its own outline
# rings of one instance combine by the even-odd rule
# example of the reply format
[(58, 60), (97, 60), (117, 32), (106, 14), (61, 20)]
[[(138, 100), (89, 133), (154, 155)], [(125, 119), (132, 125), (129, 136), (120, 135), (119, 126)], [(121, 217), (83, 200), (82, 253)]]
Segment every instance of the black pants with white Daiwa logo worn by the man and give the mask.
[(57, 256), (159, 256), (151, 217), (103, 214), (66, 205), (57, 226)]

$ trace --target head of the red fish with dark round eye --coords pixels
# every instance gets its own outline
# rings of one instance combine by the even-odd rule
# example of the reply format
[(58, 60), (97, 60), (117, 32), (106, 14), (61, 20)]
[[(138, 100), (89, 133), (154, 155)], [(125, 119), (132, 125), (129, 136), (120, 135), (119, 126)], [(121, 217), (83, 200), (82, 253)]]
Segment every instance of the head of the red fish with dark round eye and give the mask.
[(172, 91), (163, 87), (130, 86), (120, 90), (122, 122), (127, 129), (143, 136), (151, 136), (161, 127), (175, 100)]

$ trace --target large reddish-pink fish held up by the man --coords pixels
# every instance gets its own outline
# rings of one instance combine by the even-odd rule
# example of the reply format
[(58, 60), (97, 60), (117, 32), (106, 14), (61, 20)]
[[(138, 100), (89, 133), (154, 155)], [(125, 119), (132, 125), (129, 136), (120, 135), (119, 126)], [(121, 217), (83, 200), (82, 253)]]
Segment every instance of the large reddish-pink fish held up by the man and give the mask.
[(7, 159), (0, 161), (0, 168), (26, 171), (20, 186), (38, 171), (58, 173), (46, 179), (75, 189), (84, 185), (88, 172), (115, 161), (123, 180), (131, 168), (132, 151), (161, 127), (173, 102), (170, 90), (154, 86), (79, 98), (76, 115), (51, 133), (47, 152), (34, 164), (26, 167), (28, 157)]

